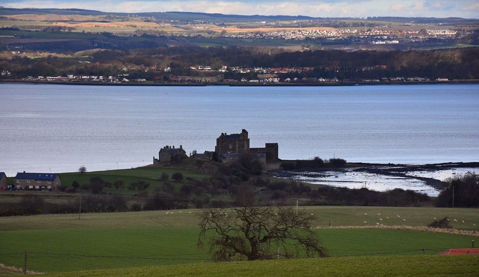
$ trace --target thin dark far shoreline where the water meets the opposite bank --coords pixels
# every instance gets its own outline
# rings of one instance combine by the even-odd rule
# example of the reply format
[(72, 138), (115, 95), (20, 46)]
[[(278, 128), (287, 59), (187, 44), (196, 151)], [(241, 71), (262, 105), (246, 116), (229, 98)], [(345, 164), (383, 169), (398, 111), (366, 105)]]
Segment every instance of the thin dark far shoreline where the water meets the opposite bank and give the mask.
[(381, 86), (381, 85), (435, 85), (435, 84), (479, 84), (479, 80), (457, 80), (457, 81), (401, 81), (401, 82), (329, 82), (329, 83), (154, 83), (154, 82), (129, 82), (129, 83), (108, 83), (108, 82), (70, 82), (70, 81), (38, 81), (38, 80), (16, 80), (3, 79), (0, 84), (50, 84), (50, 85), (74, 85), (74, 86), (144, 86), (144, 87), (206, 87), (206, 86), (228, 86), (228, 87), (342, 87), (342, 86)]

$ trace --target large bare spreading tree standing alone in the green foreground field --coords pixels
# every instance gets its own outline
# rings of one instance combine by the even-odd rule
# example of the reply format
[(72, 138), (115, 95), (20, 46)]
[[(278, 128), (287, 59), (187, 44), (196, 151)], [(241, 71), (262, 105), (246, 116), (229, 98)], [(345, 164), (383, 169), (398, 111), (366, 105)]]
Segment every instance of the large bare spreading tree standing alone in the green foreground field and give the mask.
[[(208, 235), (214, 261), (326, 257), (311, 230), (313, 215), (291, 207), (205, 209), (200, 215), (201, 247)], [(279, 249), (279, 251), (278, 251)]]

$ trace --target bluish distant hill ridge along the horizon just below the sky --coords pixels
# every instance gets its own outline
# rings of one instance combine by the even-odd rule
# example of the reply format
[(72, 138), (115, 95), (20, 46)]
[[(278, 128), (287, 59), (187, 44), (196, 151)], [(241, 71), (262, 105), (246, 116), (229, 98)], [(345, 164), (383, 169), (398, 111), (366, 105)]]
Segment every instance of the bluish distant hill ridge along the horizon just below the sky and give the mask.
[(218, 22), (248, 22), (248, 21), (277, 21), (277, 20), (374, 20), (387, 22), (402, 22), (402, 23), (469, 23), (479, 21), (478, 19), (466, 19), (460, 17), (436, 18), (436, 17), (393, 17), (393, 16), (378, 16), (367, 18), (354, 17), (311, 17), (304, 15), (240, 15), (240, 14), (222, 14), (222, 13), (206, 13), (206, 12), (184, 12), (184, 11), (166, 11), (166, 12), (105, 12), (98, 10), (79, 9), (79, 8), (6, 8), (0, 7), (0, 15), (13, 14), (77, 14), (77, 15), (123, 15), (123, 16), (144, 16), (154, 17), (156, 19), (166, 20), (205, 20)]

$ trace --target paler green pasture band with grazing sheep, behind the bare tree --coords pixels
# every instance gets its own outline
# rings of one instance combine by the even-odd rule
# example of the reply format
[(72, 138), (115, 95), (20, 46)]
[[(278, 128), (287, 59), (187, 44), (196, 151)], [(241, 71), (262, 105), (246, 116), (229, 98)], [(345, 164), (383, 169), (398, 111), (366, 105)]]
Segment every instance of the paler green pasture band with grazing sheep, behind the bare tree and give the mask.
[[(313, 226), (374, 226), (382, 222), (385, 226), (427, 226), (436, 218), (449, 217), (450, 225), (458, 230), (479, 231), (479, 210), (461, 208), (418, 208), (418, 207), (369, 207), (369, 206), (299, 206), (300, 210), (312, 213), (316, 221)], [(190, 214), (191, 212), (191, 214)], [(52, 214), (0, 217), (0, 230), (42, 230), (64, 228), (127, 228), (127, 227), (196, 227), (196, 215), (200, 210), (143, 211), (124, 213)], [(367, 213), (367, 215), (364, 215)], [(381, 216), (377, 214), (381, 213)], [(398, 218), (397, 215), (401, 216)], [(386, 219), (389, 217), (390, 219)], [(380, 221), (379, 218), (383, 218)], [(406, 219), (403, 221), (402, 219)], [(454, 221), (457, 219), (458, 221)], [(465, 223), (461, 221), (464, 220)], [(366, 221), (367, 223), (364, 223)], [(473, 224), (476, 224), (474, 226)]]

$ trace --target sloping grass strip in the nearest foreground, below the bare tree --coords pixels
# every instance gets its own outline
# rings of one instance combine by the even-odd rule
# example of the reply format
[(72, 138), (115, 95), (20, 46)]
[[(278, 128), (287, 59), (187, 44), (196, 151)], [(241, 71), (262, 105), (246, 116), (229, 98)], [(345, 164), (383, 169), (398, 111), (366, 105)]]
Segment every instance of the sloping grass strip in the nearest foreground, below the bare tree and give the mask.
[(479, 257), (355, 257), (208, 263), (48, 276), (478, 276)]

